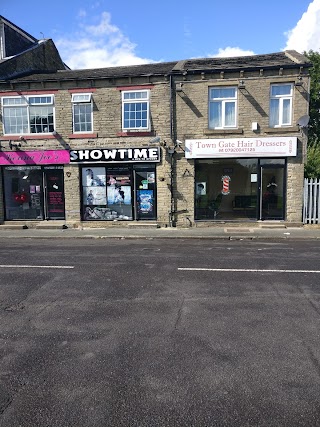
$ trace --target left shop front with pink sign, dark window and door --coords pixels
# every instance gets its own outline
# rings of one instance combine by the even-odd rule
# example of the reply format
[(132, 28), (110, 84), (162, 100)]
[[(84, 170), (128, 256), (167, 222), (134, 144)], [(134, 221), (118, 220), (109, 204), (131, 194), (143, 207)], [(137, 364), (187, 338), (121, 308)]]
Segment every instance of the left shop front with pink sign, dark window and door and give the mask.
[(1, 152), (5, 220), (65, 219), (67, 150)]

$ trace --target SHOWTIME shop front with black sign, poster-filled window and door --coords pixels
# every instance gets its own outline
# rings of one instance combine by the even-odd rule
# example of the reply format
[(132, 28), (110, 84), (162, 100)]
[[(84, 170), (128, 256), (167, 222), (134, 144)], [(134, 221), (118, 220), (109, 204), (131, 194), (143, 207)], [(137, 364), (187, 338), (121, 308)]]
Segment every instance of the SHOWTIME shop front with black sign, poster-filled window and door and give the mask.
[(155, 220), (159, 147), (70, 152), (79, 164), (82, 221)]

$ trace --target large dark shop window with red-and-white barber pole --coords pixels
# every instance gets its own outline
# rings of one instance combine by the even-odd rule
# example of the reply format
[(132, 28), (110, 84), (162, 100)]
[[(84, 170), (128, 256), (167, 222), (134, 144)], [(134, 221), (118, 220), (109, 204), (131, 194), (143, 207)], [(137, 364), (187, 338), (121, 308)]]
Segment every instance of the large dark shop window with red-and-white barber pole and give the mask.
[(258, 159), (196, 161), (195, 219), (256, 219)]

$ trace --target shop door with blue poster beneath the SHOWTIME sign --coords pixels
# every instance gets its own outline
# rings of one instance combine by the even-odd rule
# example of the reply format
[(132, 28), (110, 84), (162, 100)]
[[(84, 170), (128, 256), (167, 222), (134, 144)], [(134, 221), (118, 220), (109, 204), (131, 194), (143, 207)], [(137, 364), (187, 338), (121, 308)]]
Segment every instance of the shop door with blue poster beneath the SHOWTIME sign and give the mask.
[(154, 169), (134, 170), (134, 184), (136, 220), (156, 219)]

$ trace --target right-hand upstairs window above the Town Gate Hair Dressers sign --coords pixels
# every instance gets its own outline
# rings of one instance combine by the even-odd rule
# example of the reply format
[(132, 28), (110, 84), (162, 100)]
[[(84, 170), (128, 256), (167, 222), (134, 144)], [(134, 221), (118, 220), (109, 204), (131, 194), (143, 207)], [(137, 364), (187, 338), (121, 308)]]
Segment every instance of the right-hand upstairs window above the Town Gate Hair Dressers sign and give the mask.
[(290, 126), (292, 116), (292, 84), (270, 87), (270, 126)]

